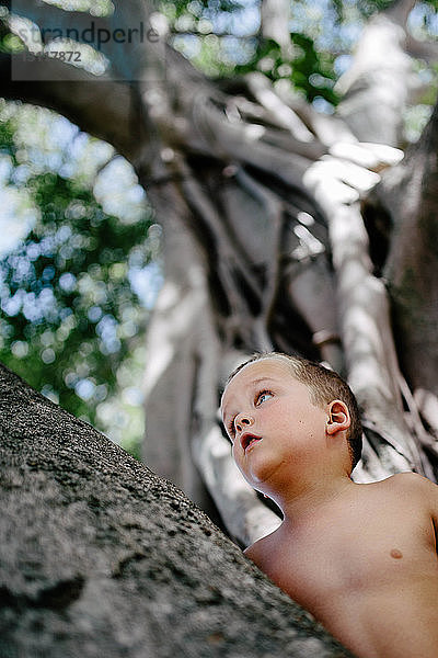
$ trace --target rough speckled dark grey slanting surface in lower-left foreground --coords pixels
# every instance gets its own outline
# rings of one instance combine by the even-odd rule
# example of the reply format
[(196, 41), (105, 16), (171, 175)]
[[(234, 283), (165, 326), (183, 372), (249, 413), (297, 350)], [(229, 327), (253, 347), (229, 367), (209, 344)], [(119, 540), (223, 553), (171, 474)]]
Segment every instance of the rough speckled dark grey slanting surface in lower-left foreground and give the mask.
[(348, 656), (171, 483), (0, 368), (0, 656)]

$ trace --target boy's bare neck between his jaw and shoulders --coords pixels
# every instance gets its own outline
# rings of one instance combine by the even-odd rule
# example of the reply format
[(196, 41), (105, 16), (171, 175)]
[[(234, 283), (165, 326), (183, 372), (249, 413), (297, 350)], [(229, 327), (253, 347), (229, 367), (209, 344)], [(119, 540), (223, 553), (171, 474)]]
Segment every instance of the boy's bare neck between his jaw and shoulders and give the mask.
[(299, 492), (287, 492), (276, 501), (284, 514), (284, 530), (323, 521), (326, 519), (326, 509), (348, 491), (351, 492), (354, 487), (357, 485), (344, 474), (330, 479), (320, 478)]

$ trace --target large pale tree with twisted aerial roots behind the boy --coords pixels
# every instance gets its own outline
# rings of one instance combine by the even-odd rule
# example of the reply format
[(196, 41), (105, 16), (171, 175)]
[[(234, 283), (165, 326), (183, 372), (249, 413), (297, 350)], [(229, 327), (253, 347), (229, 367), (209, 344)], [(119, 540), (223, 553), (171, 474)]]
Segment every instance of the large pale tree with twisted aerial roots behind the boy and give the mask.
[[(217, 420), (227, 373), (254, 350), (299, 351), (348, 377), (366, 430), (358, 480), (437, 475), (437, 110), (403, 161), (399, 148), (418, 93), (413, 58), (437, 52), (408, 33), (414, 4), (370, 18), (334, 115), (262, 64), (207, 79), (136, 0), (93, 18), (92, 41), (112, 65), (99, 81), (60, 57), (3, 56), (4, 70), (13, 64), (8, 98), (56, 109), (111, 141), (148, 192), (165, 282), (148, 332), (145, 460), (206, 509), (208, 491), (241, 543), (278, 522), (239, 478)], [(274, 38), (273, 58), (293, 69), (287, 21), (270, 21), (269, 5), (260, 63)], [(84, 12), (28, 1), (13, 10), (46, 35), (74, 29), (90, 41)], [(148, 37), (120, 46), (139, 25)]]

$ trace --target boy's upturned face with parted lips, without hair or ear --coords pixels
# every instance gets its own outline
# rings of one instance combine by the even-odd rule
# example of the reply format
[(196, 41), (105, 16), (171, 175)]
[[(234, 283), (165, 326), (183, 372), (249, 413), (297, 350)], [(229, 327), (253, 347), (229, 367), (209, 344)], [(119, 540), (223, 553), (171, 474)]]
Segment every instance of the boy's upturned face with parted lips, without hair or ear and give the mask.
[(325, 440), (326, 410), (280, 358), (245, 365), (227, 386), (221, 411), (237, 465), (266, 494), (312, 468)]

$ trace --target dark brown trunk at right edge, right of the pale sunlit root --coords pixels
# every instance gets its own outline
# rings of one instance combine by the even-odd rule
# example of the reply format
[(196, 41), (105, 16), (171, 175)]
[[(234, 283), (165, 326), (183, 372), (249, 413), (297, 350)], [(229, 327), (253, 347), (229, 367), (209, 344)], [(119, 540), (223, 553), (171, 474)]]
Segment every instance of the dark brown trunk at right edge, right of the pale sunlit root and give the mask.
[[(389, 172), (377, 196), (392, 226), (384, 268), (400, 361), (413, 390), (413, 405), (438, 439), (437, 235), (438, 103), (422, 139)], [(417, 423), (420, 428), (420, 423)], [(420, 431), (428, 451), (437, 453)]]

